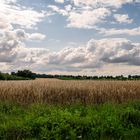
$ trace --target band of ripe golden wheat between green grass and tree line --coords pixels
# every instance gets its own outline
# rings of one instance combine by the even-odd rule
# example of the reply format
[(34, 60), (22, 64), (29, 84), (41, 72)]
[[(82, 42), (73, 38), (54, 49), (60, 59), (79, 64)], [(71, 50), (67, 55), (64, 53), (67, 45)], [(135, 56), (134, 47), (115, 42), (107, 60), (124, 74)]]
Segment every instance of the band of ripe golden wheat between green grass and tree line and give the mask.
[(100, 104), (140, 99), (140, 81), (0, 81), (0, 100), (20, 104)]

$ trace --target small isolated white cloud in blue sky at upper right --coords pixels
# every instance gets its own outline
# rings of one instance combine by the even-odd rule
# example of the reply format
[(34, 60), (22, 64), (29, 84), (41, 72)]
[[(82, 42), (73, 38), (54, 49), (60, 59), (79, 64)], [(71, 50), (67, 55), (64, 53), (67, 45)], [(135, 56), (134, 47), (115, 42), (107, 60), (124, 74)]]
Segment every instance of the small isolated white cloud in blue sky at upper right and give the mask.
[(132, 23), (133, 22), (133, 19), (130, 19), (128, 15), (115, 14), (114, 18), (119, 23)]

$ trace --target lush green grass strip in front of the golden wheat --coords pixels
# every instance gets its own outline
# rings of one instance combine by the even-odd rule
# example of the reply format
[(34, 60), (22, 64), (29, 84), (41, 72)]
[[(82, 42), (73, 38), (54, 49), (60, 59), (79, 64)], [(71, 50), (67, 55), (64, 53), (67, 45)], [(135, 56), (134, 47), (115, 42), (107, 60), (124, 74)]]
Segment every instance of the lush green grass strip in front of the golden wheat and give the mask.
[(2, 140), (138, 140), (140, 102), (94, 106), (0, 103)]

